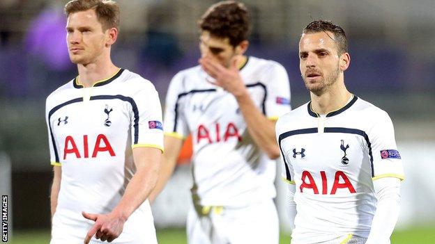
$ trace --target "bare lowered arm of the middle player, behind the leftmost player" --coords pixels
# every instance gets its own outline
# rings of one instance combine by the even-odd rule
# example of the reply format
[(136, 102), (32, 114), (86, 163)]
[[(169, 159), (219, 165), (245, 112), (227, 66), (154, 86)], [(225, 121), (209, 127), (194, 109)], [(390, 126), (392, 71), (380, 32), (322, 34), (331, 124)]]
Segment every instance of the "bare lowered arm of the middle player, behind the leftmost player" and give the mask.
[(165, 135), (165, 152), (162, 156), (159, 177), (155, 188), (148, 197), (150, 202), (154, 202), (155, 197), (165, 188), (167, 181), (171, 178), (176, 166), (178, 154), (180, 154), (183, 145), (183, 139), (176, 136)]

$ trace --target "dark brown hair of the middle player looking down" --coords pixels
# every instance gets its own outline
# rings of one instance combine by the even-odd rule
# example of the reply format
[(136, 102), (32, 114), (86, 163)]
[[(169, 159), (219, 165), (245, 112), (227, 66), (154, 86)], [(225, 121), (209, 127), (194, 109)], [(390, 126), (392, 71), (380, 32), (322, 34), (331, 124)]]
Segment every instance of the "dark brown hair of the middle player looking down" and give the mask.
[(215, 3), (202, 15), (198, 24), (201, 31), (209, 31), (217, 38), (229, 38), (233, 47), (247, 40), (249, 32), (247, 8), (237, 1)]

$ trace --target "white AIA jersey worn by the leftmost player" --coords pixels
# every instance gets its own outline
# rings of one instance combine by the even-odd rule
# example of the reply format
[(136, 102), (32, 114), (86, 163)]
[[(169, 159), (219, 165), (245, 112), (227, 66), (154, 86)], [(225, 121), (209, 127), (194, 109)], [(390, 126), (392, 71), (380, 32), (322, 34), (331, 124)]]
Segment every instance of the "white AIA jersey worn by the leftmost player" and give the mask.
[[(46, 119), (52, 165), (62, 167), (53, 225), (78, 227), (70, 234), (84, 238), (93, 222), (82, 211), (112, 211), (135, 174), (132, 148), (163, 149), (158, 92), (150, 81), (123, 69), (92, 88), (74, 79), (47, 97)], [(116, 240), (129, 240), (124, 233), (134, 232), (131, 228), (153, 230), (148, 201), (127, 222), (133, 220), (142, 227), (126, 224)]]

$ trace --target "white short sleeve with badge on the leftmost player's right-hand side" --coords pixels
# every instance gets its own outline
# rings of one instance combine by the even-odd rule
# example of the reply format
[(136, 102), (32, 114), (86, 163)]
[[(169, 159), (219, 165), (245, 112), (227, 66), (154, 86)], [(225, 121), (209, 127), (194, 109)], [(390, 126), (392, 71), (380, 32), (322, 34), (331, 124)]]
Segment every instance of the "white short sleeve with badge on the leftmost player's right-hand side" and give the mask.
[(163, 151), (162, 106), (154, 86), (139, 88), (133, 96), (132, 147), (155, 147)]

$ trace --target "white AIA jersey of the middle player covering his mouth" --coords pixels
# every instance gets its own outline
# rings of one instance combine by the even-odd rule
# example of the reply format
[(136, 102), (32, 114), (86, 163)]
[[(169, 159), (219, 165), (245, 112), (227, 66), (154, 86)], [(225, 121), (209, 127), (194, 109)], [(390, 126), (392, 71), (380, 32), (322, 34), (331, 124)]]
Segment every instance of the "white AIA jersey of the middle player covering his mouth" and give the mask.
[[(271, 119), (290, 111), (287, 72), (249, 57), (241, 76), (254, 104)], [(192, 194), (203, 206), (245, 206), (275, 197), (275, 161), (255, 145), (236, 98), (209, 83), (200, 66), (178, 72), (167, 92), (165, 134), (192, 133)]]

